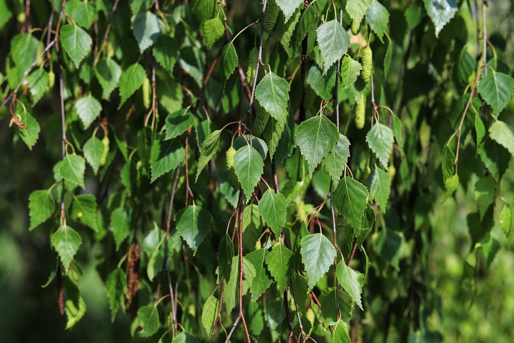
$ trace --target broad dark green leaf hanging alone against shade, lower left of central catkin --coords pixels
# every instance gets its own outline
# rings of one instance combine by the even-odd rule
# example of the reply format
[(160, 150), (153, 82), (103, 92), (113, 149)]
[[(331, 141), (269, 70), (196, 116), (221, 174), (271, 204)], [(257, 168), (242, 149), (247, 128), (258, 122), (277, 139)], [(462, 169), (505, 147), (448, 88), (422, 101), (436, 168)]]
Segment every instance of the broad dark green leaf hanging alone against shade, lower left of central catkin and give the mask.
[(190, 205), (175, 214), (177, 230), (180, 236), (188, 243), (196, 254), (198, 246), (211, 230), (211, 214), (198, 205)]

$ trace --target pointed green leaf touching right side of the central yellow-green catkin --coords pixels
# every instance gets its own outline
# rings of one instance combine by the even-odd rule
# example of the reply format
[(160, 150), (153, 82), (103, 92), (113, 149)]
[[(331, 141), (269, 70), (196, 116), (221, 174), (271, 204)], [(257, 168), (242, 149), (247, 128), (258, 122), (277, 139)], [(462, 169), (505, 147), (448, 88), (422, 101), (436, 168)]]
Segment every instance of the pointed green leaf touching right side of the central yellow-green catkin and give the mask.
[(250, 198), (264, 170), (261, 154), (251, 146), (237, 150), (234, 155), (234, 169), (241, 187)]

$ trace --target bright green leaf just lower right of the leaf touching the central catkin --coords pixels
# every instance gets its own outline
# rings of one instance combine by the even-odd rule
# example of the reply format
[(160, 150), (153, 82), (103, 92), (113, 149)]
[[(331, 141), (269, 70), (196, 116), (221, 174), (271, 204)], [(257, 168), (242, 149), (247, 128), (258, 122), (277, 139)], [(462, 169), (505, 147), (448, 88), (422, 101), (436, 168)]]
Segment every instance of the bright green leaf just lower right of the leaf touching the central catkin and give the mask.
[(259, 202), (259, 213), (262, 213), (262, 218), (271, 227), (275, 236), (279, 237), (282, 226), (286, 222), (286, 198), (284, 195), (277, 194), (268, 188)]

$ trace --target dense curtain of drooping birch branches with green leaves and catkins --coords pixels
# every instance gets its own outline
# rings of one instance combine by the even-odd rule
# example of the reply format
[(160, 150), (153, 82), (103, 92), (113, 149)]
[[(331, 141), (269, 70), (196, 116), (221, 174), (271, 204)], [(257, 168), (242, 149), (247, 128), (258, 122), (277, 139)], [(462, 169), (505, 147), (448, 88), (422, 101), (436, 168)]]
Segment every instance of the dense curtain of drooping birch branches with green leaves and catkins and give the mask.
[(31, 3), (0, 0), (0, 116), (29, 149), (45, 128), (57, 151), (29, 229), (51, 230), (46, 285), (57, 276), (67, 328), (86, 311), (87, 241), (135, 336), (440, 340), (434, 202), (474, 189), (470, 292), (500, 249), (495, 222), (510, 240), (511, 206), (494, 212), (514, 79), (504, 47), (472, 44), (467, 2)]

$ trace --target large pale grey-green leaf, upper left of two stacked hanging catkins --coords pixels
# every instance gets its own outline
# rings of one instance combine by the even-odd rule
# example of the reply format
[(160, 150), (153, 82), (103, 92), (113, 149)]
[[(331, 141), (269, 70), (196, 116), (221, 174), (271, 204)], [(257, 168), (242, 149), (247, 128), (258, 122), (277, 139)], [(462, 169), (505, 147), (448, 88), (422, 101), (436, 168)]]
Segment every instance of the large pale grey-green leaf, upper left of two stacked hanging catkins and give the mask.
[(336, 63), (348, 51), (350, 37), (335, 19), (321, 24), (316, 32), (318, 33), (317, 40), (323, 59), (323, 74), (326, 74), (331, 65)]

